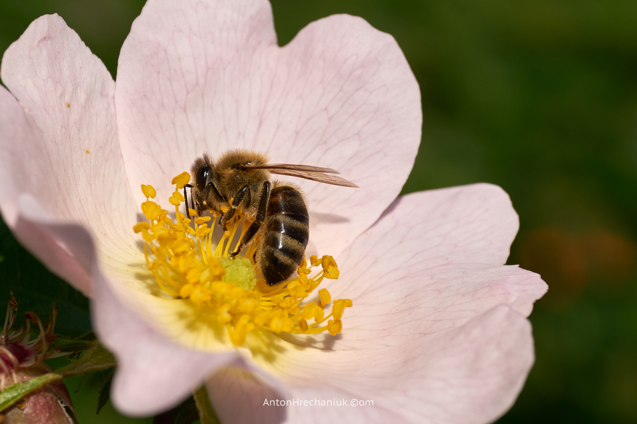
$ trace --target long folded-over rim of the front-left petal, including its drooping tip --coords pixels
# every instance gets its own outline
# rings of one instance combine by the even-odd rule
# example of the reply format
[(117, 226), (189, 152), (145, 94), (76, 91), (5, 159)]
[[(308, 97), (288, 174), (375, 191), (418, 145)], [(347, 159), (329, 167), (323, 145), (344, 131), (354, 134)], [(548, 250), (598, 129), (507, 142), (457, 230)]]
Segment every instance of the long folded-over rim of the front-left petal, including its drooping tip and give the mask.
[(113, 294), (110, 288), (113, 283), (97, 263), (93, 237), (87, 229), (43, 219), (46, 212), (28, 195), (20, 198), (19, 206), (18, 222), (64, 243), (69, 254), (90, 273), (94, 282), (93, 325), (102, 343), (118, 360), (111, 399), (120, 411), (134, 415), (159, 413), (188, 397), (203, 383), (204, 376), (218, 367), (248, 367), (236, 352), (192, 350), (157, 334)]

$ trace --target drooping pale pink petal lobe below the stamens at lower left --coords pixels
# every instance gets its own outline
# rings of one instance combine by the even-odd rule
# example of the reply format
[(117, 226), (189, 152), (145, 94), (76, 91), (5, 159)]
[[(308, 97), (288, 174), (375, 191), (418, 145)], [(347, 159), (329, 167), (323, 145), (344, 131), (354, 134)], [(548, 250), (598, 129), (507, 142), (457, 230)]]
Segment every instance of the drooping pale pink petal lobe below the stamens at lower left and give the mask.
[(176, 345), (158, 334), (94, 274), (94, 325), (117, 356), (111, 399), (119, 411), (148, 416), (173, 406), (203, 384), (204, 376), (240, 360), (236, 352), (207, 353)]

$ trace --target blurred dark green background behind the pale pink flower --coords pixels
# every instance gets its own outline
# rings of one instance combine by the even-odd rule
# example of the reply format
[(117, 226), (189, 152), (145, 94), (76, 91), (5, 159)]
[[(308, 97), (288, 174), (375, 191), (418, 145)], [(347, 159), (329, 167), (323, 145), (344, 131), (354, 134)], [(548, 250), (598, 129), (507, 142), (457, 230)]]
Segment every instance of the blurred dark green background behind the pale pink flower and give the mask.
[[(0, 0), (0, 51), (55, 12), (115, 76), (143, 3)], [(487, 181), (510, 194), (520, 232), (509, 263), (550, 290), (531, 315), (536, 364), (497, 422), (637, 422), (637, 1), (273, 0), (273, 10), (280, 44), (333, 13), (397, 39), (424, 113), (404, 193)], [(88, 329), (87, 300), (2, 224), (0, 294), (10, 285), (22, 312), (43, 316), (59, 288), (58, 331)], [(110, 406), (95, 416), (92, 379), (75, 395), (82, 423), (150, 423)]]

